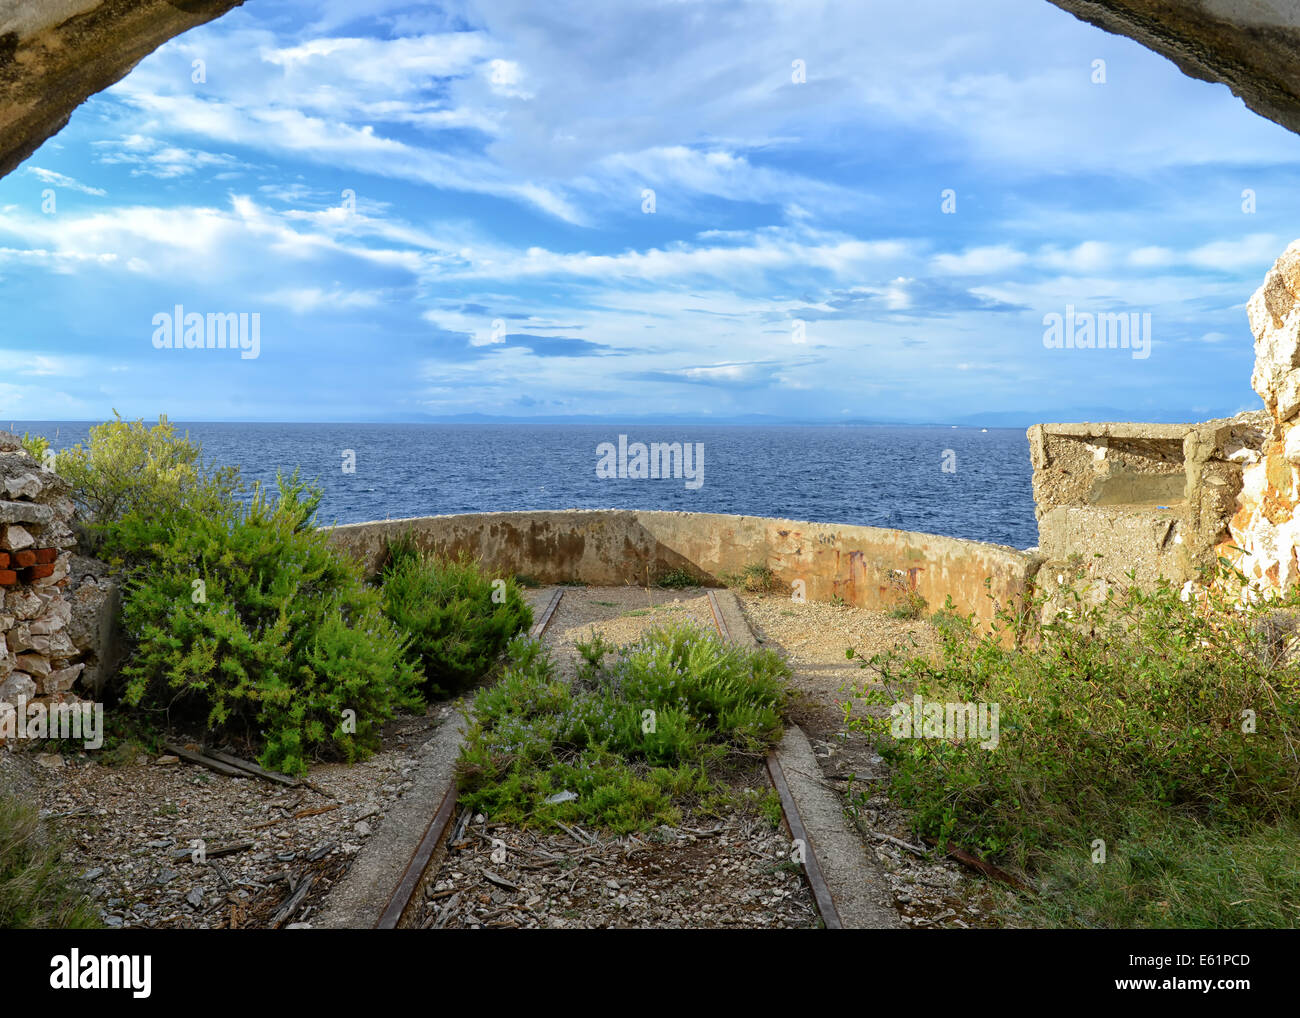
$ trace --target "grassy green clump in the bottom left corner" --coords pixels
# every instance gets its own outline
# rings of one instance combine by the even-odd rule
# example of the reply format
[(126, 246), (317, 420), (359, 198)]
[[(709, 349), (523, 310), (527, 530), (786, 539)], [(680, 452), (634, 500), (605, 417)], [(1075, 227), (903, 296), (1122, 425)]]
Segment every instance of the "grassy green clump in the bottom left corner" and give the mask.
[(36, 811), (0, 796), (0, 930), (94, 930), (94, 905), (68, 875)]

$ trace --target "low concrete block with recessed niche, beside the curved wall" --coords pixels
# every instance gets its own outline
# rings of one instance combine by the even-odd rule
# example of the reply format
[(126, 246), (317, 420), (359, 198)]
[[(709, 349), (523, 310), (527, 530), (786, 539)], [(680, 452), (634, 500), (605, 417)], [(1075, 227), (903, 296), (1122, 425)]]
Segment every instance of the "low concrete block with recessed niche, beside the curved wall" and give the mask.
[(1213, 567), (1265, 411), (1202, 424), (1036, 424), (1028, 430), (1039, 551), (1049, 572), (1083, 568), (1149, 586)]

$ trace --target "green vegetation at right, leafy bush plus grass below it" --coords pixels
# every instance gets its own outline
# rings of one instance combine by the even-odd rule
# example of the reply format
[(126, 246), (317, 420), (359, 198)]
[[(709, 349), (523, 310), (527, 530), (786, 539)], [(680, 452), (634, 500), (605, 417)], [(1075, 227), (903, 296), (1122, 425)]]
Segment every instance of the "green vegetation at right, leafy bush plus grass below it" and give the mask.
[[(1019, 923), (1300, 924), (1300, 597), (1240, 605), (1242, 577), (1183, 601), (1162, 585), (1104, 599), (1054, 585), (994, 632), (945, 614), (935, 659), (863, 667), (854, 718), (890, 764), (919, 835), (1034, 879)], [(1226, 593), (1230, 592), (1230, 593)], [(1004, 640), (1005, 636), (1014, 637)], [(1000, 737), (894, 738), (884, 709), (998, 703)]]

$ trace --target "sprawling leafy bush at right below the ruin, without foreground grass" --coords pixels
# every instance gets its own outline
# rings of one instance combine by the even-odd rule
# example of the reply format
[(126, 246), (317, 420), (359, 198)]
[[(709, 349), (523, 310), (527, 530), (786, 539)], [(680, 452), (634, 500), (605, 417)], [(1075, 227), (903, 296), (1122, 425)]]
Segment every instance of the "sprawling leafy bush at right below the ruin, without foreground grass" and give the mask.
[(1063, 584), (1050, 597), (1063, 608), (1050, 624), (1000, 611), (980, 633), (945, 614), (933, 659), (863, 666), (881, 683), (868, 705), (998, 705), (993, 749), (894, 740), (884, 714), (854, 722), (875, 736), (919, 833), (1034, 870), (1087, 858), (1098, 839), (1132, 859), (1147, 850), (1135, 832), (1193, 823), (1222, 842), (1300, 818), (1300, 659), (1279, 647), (1294, 624), (1275, 624), (1296, 594), (1199, 603), (1162, 584), (1092, 603)]

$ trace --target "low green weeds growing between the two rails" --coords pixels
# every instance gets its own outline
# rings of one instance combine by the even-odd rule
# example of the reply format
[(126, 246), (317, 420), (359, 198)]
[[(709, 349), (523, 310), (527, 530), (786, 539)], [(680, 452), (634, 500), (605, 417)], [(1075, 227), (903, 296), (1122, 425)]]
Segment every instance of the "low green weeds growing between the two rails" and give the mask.
[(619, 650), (597, 638), (578, 651), (569, 685), (541, 644), (511, 644), (502, 680), (474, 699), (458, 764), (468, 809), (499, 823), (614, 833), (675, 824), (684, 807), (754, 805), (779, 823), (775, 796), (725, 781), (781, 737), (789, 668), (775, 653), (689, 625), (651, 629)]

